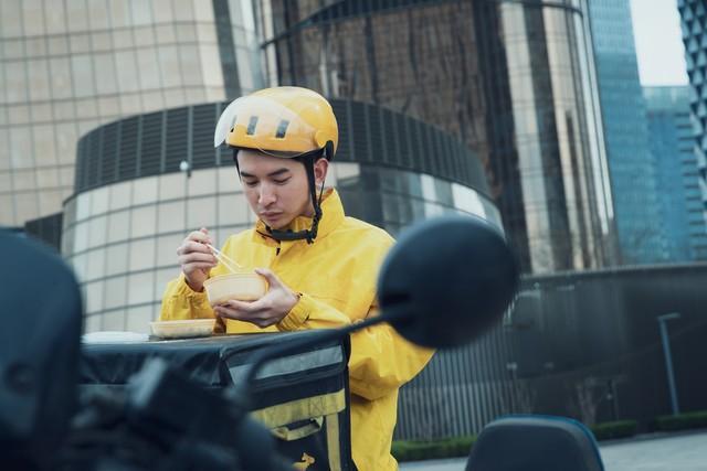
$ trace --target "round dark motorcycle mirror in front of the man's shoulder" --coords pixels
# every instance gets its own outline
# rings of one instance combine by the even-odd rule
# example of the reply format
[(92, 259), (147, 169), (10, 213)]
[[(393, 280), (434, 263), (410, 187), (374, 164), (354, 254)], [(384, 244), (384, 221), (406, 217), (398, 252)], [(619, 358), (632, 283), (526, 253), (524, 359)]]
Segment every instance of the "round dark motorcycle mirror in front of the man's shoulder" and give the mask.
[(382, 318), (430, 347), (471, 342), (504, 314), (518, 264), (503, 234), (477, 216), (442, 216), (404, 232), (378, 279)]

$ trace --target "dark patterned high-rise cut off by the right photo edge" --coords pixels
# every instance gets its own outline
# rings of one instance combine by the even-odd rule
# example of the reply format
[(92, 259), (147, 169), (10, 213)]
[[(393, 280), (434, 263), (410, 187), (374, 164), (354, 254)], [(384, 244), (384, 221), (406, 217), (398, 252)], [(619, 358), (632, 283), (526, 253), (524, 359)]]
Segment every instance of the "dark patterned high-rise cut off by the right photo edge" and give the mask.
[(677, 8), (690, 85), (697, 188), (703, 204), (703, 223), (693, 218), (690, 224), (707, 231), (707, 4), (705, 0), (678, 0)]

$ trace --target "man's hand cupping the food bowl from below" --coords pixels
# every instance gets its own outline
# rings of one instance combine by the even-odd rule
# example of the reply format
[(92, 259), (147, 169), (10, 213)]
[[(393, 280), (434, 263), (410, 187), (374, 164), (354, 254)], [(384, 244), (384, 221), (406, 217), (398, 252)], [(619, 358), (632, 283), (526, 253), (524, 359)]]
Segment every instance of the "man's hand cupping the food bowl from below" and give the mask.
[(266, 268), (256, 268), (255, 272), (267, 280), (270, 288), (264, 297), (257, 301), (246, 302), (235, 299), (225, 304), (217, 306), (213, 311), (217, 315), (239, 321), (251, 322), (260, 328), (276, 324), (282, 321), (295, 307), (299, 297)]

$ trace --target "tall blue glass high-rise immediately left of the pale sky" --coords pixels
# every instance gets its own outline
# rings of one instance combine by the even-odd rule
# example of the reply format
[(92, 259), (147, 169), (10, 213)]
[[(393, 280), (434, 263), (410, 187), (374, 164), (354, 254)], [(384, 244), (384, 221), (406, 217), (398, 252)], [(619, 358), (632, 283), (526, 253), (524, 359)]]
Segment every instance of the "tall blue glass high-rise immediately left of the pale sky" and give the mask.
[(629, 0), (589, 0), (609, 174), (623, 264), (666, 260)]

